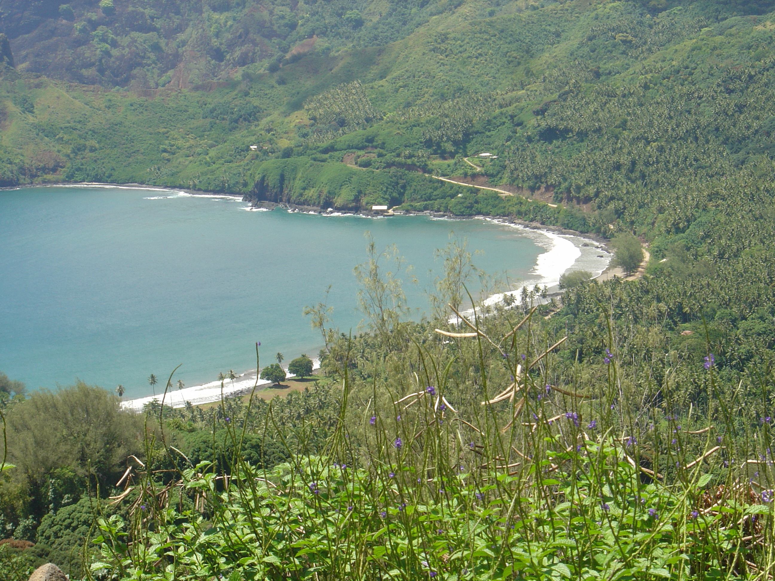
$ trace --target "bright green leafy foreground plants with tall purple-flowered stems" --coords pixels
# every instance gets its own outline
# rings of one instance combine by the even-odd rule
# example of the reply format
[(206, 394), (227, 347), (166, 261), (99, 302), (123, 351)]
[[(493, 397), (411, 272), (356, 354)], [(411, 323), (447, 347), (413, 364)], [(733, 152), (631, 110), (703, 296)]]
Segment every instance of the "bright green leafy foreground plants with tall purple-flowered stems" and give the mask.
[[(428, 356), (418, 389), (359, 425), (346, 419), (344, 367), (339, 426), (321, 456), (255, 469), (239, 453), (244, 428), (231, 427), (230, 474), (202, 462), (163, 486), (152, 470), (136, 473), (132, 518), (99, 521), (102, 559), (92, 572), (233, 580), (770, 576), (770, 418), (735, 441), (739, 427), (711, 397), (706, 419), (723, 429), (687, 431), (677, 417), (660, 420), (648, 409), (653, 423), (638, 428), (644, 418), (618, 413), (628, 402), (608, 349), (599, 394), (546, 381), (564, 339), (531, 356), (530, 333), (518, 331), (534, 311), (498, 344), (476, 322), (465, 320), (473, 332), (438, 330), (461, 351), (477, 342), (480, 363), (491, 347), (507, 365), (520, 362), (511, 385), (467, 417), (446, 396), (451, 363), (442, 368), (418, 346)], [(520, 352), (528, 356), (512, 355)], [(712, 357), (705, 367), (714, 391)], [(708, 488), (711, 480), (717, 484)]]

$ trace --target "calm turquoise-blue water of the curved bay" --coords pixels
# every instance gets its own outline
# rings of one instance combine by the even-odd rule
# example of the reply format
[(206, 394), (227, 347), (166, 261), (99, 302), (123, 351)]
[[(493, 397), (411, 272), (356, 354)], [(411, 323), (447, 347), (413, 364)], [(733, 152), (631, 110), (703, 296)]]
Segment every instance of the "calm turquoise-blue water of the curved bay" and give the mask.
[(286, 363), (316, 356), (322, 340), (301, 310), (330, 284), (335, 324), (355, 331), (353, 266), (366, 260), (367, 231), (414, 266), (418, 284), (405, 290), (418, 310), (441, 273), (433, 251), (452, 230), (484, 252), (477, 266), (510, 280), (529, 278), (545, 252), (518, 230), (478, 220), (245, 206), (140, 188), (0, 191), (0, 370), (31, 389), (79, 378), (141, 397), (150, 373), (163, 383), (179, 363), (187, 386), (255, 368), (256, 341), (262, 363), (278, 351)]

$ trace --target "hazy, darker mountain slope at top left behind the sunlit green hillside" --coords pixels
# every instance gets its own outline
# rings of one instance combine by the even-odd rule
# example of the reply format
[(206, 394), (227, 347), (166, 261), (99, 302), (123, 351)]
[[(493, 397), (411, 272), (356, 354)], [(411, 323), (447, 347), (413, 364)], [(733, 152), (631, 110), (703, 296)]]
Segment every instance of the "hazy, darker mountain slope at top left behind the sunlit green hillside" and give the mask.
[(391, 43), (461, 3), (3, 0), (0, 29), (29, 72), (107, 88), (190, 88), (313, 46), (329, 53)]

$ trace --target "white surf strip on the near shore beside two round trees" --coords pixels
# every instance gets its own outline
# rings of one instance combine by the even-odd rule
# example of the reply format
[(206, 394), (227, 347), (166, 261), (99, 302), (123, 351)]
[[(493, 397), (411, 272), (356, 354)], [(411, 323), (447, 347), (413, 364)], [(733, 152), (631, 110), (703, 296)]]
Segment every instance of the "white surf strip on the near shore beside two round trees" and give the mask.
[[(312, 369), (320, 369), (319, 359), (312, 359)], [(285, 372), (288, 373), (288, 370), (286, 369)], [(187, 402), (193, 405), (212, 404), (214, 401), (221, 401), (221, 397), (228, 398), (250, 394), (253, 391), (253, 387), (260, 391), (263, 387), (270, 385), (270, 383), (272, 382), (258, 379), (256, 370), (251, 370), (237, 376), (236, 380), (224, 381), (223, 388), (221, 388), (221, 382), (215, 380), (210, 383), (202, 383), (202, 385), (184, 387), (182, 390), (171, 389), (167, 391), (167, 394), (150, 395), (138, 397), (135, 400), (122, 401), (121, 407), (125, 410), (140, 412), (143, 411), (144, 405), (150, 404), (153, 400), (157, 400), (159, 403), (164, 403), (164, 405), (170, 407), (185, 407)]]

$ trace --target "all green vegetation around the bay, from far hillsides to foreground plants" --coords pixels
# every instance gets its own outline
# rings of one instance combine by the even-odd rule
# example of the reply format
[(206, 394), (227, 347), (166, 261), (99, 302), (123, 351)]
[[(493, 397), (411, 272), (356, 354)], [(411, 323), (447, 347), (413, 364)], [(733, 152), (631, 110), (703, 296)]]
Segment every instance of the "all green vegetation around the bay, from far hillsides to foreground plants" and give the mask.
[(2, 185), (498, 215), (609, 238), (628, 272), (651, 257), (450, 325), (465, 249), (408, 322), (371, 244), (369, 332), (306, 309), (322, 375), (271, 404), (133, 417), (0, 375), (0, 525), (37, 543), (0, 548), (6, 578), (773, 574), (773, 2), (0, 7)]

